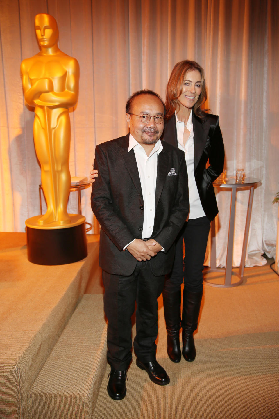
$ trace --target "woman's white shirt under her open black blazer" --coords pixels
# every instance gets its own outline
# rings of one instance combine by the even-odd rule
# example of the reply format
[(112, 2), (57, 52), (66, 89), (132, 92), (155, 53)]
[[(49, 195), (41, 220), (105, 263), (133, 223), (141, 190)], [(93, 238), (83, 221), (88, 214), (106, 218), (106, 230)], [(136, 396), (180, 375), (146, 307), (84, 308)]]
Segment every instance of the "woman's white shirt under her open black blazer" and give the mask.
[(200, 195), (197, 190), (197, 184), (194, 174), (194, 131), (193, 131), (193, 122), (192, 122), (192, 112), (189, 116), (189, 119), (186, 124), (186, 128), (190, 131), (190, 135), (185, 145), (183, 144), (183, 134), (184, 134), (184, 122), (177, 119), (177, 114), (175, 112), (175, 120), (177, 127), (177, 141), (178, 148), (184, 151), (187, 172), (188, 172), (188, 186), (189, 186), (189, 201), (190, 201), (190, 210), (189, 210), (189, 219), (205, 217), (205, 212), (202, 208), (200, 202)]

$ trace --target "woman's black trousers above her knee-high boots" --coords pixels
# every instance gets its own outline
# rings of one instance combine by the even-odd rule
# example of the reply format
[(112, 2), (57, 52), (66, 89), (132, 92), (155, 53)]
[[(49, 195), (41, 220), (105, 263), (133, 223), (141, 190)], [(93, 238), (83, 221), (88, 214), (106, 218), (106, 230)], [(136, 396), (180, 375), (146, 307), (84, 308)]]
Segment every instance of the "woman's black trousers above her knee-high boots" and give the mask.
[[(166, 290), (178, 290), (184, 280), (184, 287), (188, 291), (202, 291), (202, 270), (209, 230), (210, 220), (207, 217), (195, 218), (185, 222), (177, 236), (174, 264), (171, 274), (166, 279)], [(184, 272), (183, 240), (185, 246)]]

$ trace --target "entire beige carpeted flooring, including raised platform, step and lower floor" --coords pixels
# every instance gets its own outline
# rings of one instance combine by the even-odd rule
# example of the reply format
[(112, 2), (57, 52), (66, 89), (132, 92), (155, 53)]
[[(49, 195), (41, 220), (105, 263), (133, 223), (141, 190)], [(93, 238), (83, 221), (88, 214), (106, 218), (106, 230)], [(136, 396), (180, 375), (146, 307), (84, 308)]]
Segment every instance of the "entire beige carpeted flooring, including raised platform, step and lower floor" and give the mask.
[(23, 235), (4, 246), (1, 234), (1, 419), (279, 419), (279, 280), (268, 265), (245, 268), (239, 287), (205, 285), (195, 362), (167, 357), (159, 297), (157, 360), (171, 383), (152, 383), (133, 356), (127, 396), (114, 401), (98, 236), (83, 261), (46, 267), (28, 262)]

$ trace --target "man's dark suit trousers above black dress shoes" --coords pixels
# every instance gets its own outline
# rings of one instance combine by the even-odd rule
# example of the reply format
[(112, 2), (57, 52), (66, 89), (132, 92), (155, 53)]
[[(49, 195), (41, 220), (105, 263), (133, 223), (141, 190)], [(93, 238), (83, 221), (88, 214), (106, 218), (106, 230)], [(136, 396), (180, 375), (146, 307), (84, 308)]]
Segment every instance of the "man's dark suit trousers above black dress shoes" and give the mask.
[(149, 261), (138, 262), (130, 276), (102, 271), (105, 287), (104, 310), (108, 318), (107, 359), (115, 370), (127, 370), (132, 359), (131, 316), (136, 309), (134, 352), (141, 362), (156, 359), (158, 334), (157, 298), (164, 287), (164, 276), (152, 274)]

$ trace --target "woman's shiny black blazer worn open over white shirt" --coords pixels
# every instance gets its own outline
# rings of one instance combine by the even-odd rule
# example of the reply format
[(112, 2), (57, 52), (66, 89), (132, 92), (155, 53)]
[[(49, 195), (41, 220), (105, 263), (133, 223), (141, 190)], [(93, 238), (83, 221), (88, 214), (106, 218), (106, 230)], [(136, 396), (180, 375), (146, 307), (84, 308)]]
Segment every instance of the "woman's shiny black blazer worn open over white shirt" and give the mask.
[[(194, 131), (194, 173), (200, 202), (205, 215), (213, 220), (218, 207), (212, 182), (223, 172), (224, 144), (219, 127), (219, 116), (205, 114), (199, 118), (192, 113)], [(163, 140), (178, 147), (175, 114), (165, 122)], [(206, 168), (207, 160), (210, 166)]]

